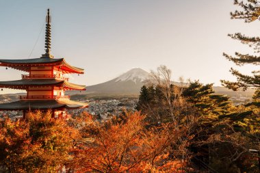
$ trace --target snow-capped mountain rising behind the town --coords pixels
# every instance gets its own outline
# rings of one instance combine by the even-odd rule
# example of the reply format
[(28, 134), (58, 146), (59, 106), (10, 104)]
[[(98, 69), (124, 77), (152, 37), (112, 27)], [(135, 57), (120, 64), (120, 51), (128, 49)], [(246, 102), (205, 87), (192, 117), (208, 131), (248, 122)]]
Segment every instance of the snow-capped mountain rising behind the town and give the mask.
[(141, 68), (132, 68), (110, 81), (87, 86), (87, 93), (138, 94), (149, 73)]

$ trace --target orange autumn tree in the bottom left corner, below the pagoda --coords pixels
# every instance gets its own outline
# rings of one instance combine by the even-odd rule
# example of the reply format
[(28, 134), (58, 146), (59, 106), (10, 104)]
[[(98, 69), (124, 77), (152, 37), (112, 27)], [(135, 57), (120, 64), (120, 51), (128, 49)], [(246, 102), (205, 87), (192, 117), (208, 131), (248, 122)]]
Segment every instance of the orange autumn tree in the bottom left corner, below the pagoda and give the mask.
[[(0, 172), (57, 172), (66, 168), (79, 135), (51, 112), (0, 120)], [(64, 167), (65, 166), (65, 167)]]

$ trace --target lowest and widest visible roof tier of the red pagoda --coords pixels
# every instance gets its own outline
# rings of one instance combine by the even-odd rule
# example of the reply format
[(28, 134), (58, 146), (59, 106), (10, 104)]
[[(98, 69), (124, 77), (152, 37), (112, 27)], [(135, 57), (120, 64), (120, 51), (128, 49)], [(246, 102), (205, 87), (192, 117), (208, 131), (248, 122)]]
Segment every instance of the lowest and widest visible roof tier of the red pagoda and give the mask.
[(88, 107), (87, 103), (77, 101), (63, 100), (42, 100), (42, 101), (15, 101), (12, 103), (0, 104), (0, 110), (26, 110), (26, 109), (78, 109)]

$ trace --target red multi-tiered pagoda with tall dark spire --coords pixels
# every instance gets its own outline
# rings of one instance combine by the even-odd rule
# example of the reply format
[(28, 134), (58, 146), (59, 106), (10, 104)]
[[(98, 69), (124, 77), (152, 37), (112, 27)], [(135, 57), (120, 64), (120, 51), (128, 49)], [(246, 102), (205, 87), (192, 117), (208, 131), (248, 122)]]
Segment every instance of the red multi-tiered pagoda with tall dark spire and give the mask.
[(31, 110), (51, 110), (53, 118), (68, 118), (67, 109), (87, 107), (87, 103), (70, 101), (66, 90), (86, 90), (85, 85), (68, 82), (65, 74), (83, 74), (83, 69), (70, 66), (64, 58), (51, 55), (51, 16), (46, 16), (45, 53), (34, 59), (0, 59), (0, 66), (27, 72), (21, 80), (0, 81), (0, 88), (26, 90), (19, 101), (0, 104), (1, 111), (23, 111), (23, 118)]

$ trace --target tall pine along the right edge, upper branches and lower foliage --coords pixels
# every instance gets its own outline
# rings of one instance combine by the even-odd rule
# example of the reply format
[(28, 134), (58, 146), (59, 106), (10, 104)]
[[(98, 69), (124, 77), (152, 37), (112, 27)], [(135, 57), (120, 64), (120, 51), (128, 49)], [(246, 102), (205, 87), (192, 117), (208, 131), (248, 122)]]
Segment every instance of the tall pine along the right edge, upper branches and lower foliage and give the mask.
[[(231, 18), (242, 19), (246, 23), (251, 23), (259, 19), (260, 2), (258, 0), (235, 0), (234, 4), (242, 8), (242, 10), (236, 10), (235, 12), (231, 12)], [(260, 53), (260, 38), (245, 36), (241, 33), (229, 34), (229, 36), (235, 40), (239, 40), (243, 44), (247, 44), (248, 46), (252, 47), (254, 49), (254, 52), (251, 55), (238, 52), (235, 52), (235, 56), (228, 55), (226, 53), (223, 53), (223, 55), (230, 61), (235, 62), (235, 64), (238, 66), (243, 66), (244, 64), (252, 64), (255, 66), (259, 66), (260, 57), (258, 54)], [(222, 84), (226, 88), (230, 88), (232, 90), (238, 90), (239, 88), (242, 88), (243, 90), (246, 90), (247, 88), (256, 89), (255, 95), (253, 96), (254, 100), (252, 103), (246, 105), (246, 107), (235, 107), (233, 114), (222, 116), (222, 118), (228, 120), (229, 127), (233, 127), (233, 134), (230, 133), (228, 136), (238, 133), (239, 135), (242, 135), (241, 137), (246, 138), (244, 139), (244, 141), (246, 142), (241, 142), (242, 140), (239, 139), (238, 135), (237, 137), (233, 138), (234, 142), (230, 143), (234, 144), (233, 146), (237, 146), (235, 148), (239, 148), (240, 150), (236, 150), (236, 153), (239, 153), (239, 155), (235, 157), (235, 161), (237, 161), (238, 159), (248, 154), (249, 147), (256, 148), (259, 150), (260, 70), (252, 71), (252, 75), (243, 75), (238, 70), (231, 68), (231, 73), (235, 75), (235, 77), (237, 77), (237, 81), (231, 82), (222, 80)], [(237, 139), (239, 140), (236, 143), (235, 141), (237, 141)], [(229, 140), (229, 142), (231, 141)], [(241, 160), (237, 165), (242, 165), (242, 163), (245, 163), (245, 161)], [(250, 163), (248, 167), (244, 168), (248, 168), (249, 170), (250, 168), (253, 168), (253, 165), (254, 164)], [(247, 170), (245, 169), (244, 171)]]

